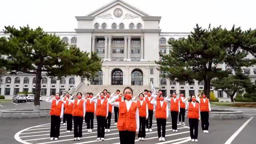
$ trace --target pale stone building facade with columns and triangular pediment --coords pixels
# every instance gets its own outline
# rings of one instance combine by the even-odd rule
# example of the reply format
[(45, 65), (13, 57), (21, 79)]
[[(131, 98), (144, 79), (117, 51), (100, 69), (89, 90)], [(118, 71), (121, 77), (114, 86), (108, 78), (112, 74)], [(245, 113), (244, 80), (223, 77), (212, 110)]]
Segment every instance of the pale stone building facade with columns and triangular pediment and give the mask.
[[(160, 60), (158, 52), (169, 54), (172, 47), (167, 43), (170, 38), (186, 38), (190, 33), (161, 32), (160, 16), (150, 16), (145, 12), (115, 0), (86, 16), (76, 16), (78, 27), (75, 32), (55, 33), (69, 45), (76, 45), (87, 52), (97, 52), (102, 58), (102, 69), (92, 82), (81, 80), (79, 76), (67, 76), (61, 80), (43, 74), (42, 96), (68, 91), (80, 81), (94, 85), (144, 85), (152, 82), (154, 87), (163, 90), (165, 95), (172, 92), (185, 96), (197, 94), (204, 88), (203, 82), (171, 82), (162, 78), (162, 72), (155, 60)], [(0, 36), (6, 36), (0, 32)], [(248, 54), (248, 58), (254, 58)], [(221, 65), (223, 69), (225, 66)], [(256, 67), (244, 68), (254, 81)], [(35, 90), (35, 75), (6, 74), (0, 84), (0, 95), (13, 96), (17, 92)], [(212, 89), (213, 90), (213, 89)], [(225, 92), (214, 91), (220, 101), (229, 101)]]

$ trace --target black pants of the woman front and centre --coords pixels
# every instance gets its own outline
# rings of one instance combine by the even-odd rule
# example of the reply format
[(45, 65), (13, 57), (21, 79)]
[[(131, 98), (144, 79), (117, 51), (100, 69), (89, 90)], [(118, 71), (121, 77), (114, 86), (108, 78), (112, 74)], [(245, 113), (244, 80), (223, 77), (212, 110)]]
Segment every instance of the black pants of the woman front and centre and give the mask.
[(135, 132), (124, 130), (119, 131), (120, 144), (134, 144)]

